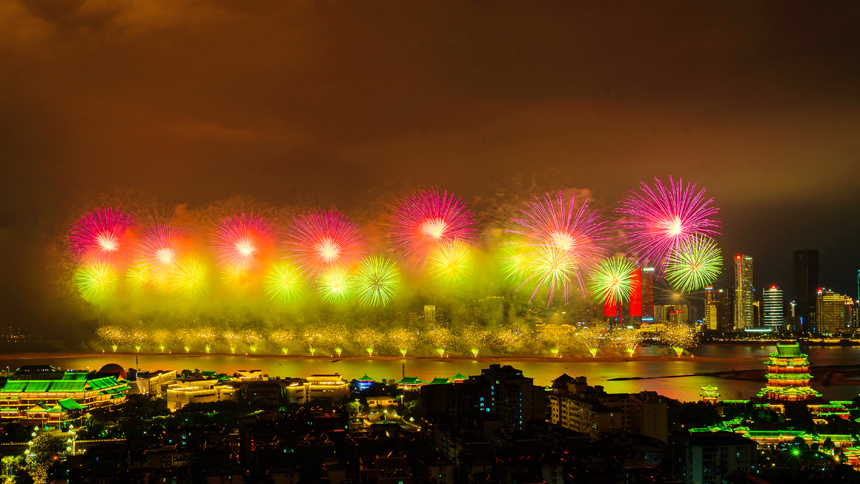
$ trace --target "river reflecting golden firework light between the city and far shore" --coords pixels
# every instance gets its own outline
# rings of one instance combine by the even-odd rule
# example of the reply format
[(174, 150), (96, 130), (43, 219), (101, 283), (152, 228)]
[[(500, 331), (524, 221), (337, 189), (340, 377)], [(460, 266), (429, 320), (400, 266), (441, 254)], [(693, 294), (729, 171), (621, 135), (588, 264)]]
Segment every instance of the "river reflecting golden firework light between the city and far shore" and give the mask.
[[(722, 398), (747, 399), (763, 386), (761, 381), (728, 380), (714, 376), (697, 375), (731, 370), (764, 368), (768, 353), (775, 351), (773, 345), (703, 345), (695, 349), (693, 357), (613, 361), (554, 361), (538, 358), (492, 358), (492, 359), (440, 359), (440, 358), (328, 358), (303, 356), (264, 355), (162, 355), (162, 354), (105, 354), (104, 356), (57, 356), (33, 355), (28, 359), (7, 359), (0, 356), (0, 368), (15, 369), (24, 364), (49, 364), (62, 369), (97, 369), (108, 363), (117, 363), (125, 368), (139, 367), (143, 370), (200, 369), (232, 374), (237, 370), (260, 369), (271, 376), (306, 377), (315, 373), (340, 373), (346, 379), (360, 378), (367, 374), (375, 380), (400, 379), (405, 365), (408, 376), (423, 380), (434, 377), (477, 375), (482, 368), (492, 363), (511, 365), (534, 378), (536, 384), (548, 385), (562, 373), (570, 376), (586, 376), (591, 385), (603, 385), (608, 392), (633, 393), (653, 390), (670, 398), (692, 401), (699, 399), (700, 388), (711, 384), (719, 387)], [(855, 365), (860, 363), (860, 347), (803, 348), (813, 365)], [(665, 348), (645, 347), (637, 355), (663, 356)], [(137, 363), (135, 363), (137, 358)], [(646, 378), (611, 381), (614, 378), (669, 377), (694, 375), (682, 378)], [(831, 400), (851, 400), (860, 393), (858, 385), (821, 386), (813, 383), (814, 389)]]

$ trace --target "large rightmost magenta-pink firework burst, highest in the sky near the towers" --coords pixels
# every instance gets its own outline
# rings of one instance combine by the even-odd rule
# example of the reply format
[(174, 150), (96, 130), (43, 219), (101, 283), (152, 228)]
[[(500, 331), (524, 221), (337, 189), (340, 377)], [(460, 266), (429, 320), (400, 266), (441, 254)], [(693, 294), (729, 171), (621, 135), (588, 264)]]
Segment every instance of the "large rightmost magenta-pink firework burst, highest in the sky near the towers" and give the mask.
[(654, 178), (652, 189), (641, 183), (642, 192), (630, 191), (618, 204), (617, 212), (627, 217), (618, 222), (624, 230), (623, 240), (631, 252), (664, 272), (672, 254), (696, 236), (719, 234), (720, 222), (710, 218), (720, 209), (712, 207), (713, 198), (705, 190), (696, 193), (696, 185), (683, 179), (678, 183), (669, 177), (669, 186)]

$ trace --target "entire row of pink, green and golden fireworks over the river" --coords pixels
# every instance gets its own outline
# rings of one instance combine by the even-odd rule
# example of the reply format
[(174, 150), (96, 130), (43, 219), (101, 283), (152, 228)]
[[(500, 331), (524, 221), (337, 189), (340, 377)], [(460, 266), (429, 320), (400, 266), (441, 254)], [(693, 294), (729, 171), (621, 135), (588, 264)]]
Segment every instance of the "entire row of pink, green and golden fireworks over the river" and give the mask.
[[(633, 276), (646, 263), (681, 292), (712, 283), (717, 210), (695, 185), (657, 181), (622, 201), (610, 232), (589, 200), (565, 193), (480, 231), (462, 200), (436, 189), (400, 197), (361, 230), (306, 207), (158, 218), (101, 207), (70, 224), (65, 287), (112, 323), (99, 337), (114, 351), (575, 357), (605, 342), (632, 356), (641, 333), (604, 328), (596, 305), (638, 304)], [(631, 252), (609, 257), (613, 243)], [(683, 352), (695, 344), (687, 333), (662, 341)]]

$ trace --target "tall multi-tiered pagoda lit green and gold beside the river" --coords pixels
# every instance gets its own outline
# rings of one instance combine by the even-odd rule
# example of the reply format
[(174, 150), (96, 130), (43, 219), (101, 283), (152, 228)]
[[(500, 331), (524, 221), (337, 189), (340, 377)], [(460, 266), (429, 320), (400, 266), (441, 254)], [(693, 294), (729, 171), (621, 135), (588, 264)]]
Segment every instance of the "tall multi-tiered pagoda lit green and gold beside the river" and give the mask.
[(809, 387), (809, 360), (800, 352), (798, 343), (777, 343), (776, 353), (771, 353), (767, 365), (767, 386), (758, 397), (778, 402), (806, 402), (821, 398), (821, 394)]

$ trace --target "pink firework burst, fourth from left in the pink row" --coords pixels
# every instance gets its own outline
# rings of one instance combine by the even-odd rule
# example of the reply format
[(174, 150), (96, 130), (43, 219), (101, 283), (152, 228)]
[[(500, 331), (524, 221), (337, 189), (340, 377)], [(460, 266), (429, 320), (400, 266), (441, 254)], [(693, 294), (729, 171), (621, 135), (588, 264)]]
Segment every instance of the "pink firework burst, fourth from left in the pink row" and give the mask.
[(316, 210), (296, 218), (287, 247), (314, 280), (328, 268), (349, 268), (364, 255), (358, 226), (334, 210)]

